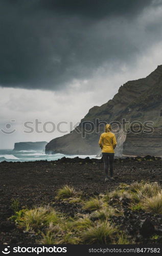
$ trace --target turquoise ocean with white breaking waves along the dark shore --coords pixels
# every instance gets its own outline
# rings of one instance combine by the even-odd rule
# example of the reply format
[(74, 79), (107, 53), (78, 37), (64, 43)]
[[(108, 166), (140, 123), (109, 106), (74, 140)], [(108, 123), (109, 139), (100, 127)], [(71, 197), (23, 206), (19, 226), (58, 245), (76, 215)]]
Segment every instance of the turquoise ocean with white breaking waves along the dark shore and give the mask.
[(42, 151), (13, 151), (13, 150), (0, 150), (0, 162), (8, 161), (8, 162), (26, 162), (26, 161), (38, 161), (38, 160), (47, 160), (47, 161), (54, 161), (62, 157), (80, 157), (80, 158), (98, 158), (96, 155), (63, 155), (63, 154), (54, 154), (54, 155), (47, 155)]

